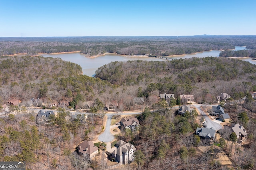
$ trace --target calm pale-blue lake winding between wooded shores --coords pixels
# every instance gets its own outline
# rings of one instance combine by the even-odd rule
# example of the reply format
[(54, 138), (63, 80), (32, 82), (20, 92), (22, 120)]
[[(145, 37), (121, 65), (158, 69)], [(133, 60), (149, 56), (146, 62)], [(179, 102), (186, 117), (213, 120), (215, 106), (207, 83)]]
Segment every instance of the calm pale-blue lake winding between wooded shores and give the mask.
[[(235, 50), (242, 50), (246, 49), (245, 47), (236, 46)], [(184, 58), (191, 58), (191, 57), (218, 57), (220, 54), (219, 50), (212, 50), (212, 51), (204, 51), (195, 54), (186, 54), (186, 55), (174, 55), (174, 58), (177, 59), (184, 59)], [(53, 57), (53, 58), (61, 58), (65, 61), (70, 61), (73, 63), (77, 63), (82, 67), (82, 71), (85, 75), (94, 76), (95, 71), (98, 67), (108, 64), (112, 61), (128, 61), (128, 60), (146, 60), (146, 61), (166, 61), (166, 59), (160, 59), (155, 57), (130, 57), (124, 55), (117, 55), (117, 54), (106, 54), (99, 57), (85, 57), (84, 54), (77, 53), (62, 53), (62, 54), (42, 54), (40, 56), (43, 57)], [(251, 58), (244, 58), (241, 59), (244, 61), (248, 61), (252, 64), (256, 65), (256, 60), (252, 60)]]

